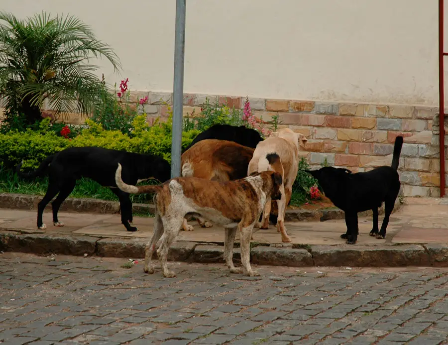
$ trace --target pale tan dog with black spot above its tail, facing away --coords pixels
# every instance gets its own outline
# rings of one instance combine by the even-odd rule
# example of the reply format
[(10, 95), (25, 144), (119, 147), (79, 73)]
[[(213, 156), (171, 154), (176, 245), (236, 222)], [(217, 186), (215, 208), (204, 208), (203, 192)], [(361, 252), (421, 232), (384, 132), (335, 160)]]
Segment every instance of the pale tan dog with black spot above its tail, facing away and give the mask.
[[(279, 129), (273, 132), (267, 139), (257, 144), (247, 169), (248, 175), (255, 171), (276, 171), (282, 175), (283, 184), (280, 189), (282, 198), (277, 200), (277, 231), (282, 235), (282, 242), (291, 242), (291, 238), (286, 233), (284, 224), (286, 205), (291, 200), (292, 185), (294, 184), (299, 169), (299, 146), (305, 145), (307, 141), (305, 135), (296, 133), (290, 128)], [(278, 155), (280, 161), (270, 163), (268, 161), (270, 154)], [(270, 210), (271, 203), (268, 200), (263, 211), (261, 229), (269, 228)]]

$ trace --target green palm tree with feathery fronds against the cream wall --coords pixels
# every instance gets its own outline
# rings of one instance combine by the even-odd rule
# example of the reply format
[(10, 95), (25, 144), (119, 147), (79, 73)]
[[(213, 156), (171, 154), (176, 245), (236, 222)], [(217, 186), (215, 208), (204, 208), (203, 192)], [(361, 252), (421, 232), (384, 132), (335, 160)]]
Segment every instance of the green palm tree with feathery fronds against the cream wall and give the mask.
[(56, 114), (91, 113), (103, 84), (89, 62), (103, 56), (120, 68), (112, 48), (74, 16), (0, 12), (0, 97), (26, 124), (41, 119), (45, 100)]

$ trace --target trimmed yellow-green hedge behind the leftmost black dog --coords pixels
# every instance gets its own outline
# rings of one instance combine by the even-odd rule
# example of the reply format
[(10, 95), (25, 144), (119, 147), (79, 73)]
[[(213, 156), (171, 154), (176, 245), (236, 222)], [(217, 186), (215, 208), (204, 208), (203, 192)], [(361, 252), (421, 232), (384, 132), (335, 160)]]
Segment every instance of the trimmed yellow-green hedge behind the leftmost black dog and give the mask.
[[(46, 120), (42, 121), (39, 131), (29, 129), (0, 134), (0, 165), (13, 168), (23, 160), (24, 168), (36, 168), (48, 155), (68, 147), (85, 146), (153, 154), (171, 162), (171, 121), (149, 127), (143, 116), (137, 116), (130, 136), (118, 130), (104, 130), (91, 120), (86, 123), (88, 127), (71, 140), (48, 130), (49, 121)], [(187, 147), (198, 133), (198, 130), (183, 132), (182, 147)]]

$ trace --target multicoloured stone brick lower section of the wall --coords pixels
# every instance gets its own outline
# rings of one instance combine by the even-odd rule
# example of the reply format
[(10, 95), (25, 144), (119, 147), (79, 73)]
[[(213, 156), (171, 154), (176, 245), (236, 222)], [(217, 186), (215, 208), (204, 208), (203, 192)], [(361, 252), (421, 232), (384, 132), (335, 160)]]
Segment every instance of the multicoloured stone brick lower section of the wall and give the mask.
[[(148, 96), (144, 105), (148, 122), (152, 123), (158, 117), (161, 120), (167, 118), (168, 108), (164, 103), (172, 103), (172, 94), (131, 92), (132, 102), (145, 96)], [(243, 97), (185, 94), (184, 115), (193, 110), (200, 114), (207, 97), (211, 102), (217, 100), (229, 107), (242, 108), (244, 104)], [(313, 168), (320, 167), (325, 159), (329, 165), (353, 172), (390, 165), (395, 137), (403, 135), (405, 143), (399, 172), (404, 196), (440, 196), (439, 116), (436, 107), (259, 98), (249, 98), (249, 101), (255, 116), (269, 121), (273, 115), (279, 115), (281, 126), (288, 126), (308, 138), (301, 155)], [(76, 114), (65, 120), (71, 123), (84, 121)], [(447, 146), (448, 136), (445, 142)], [(446, 152), (444, 156), (447, 158)]]

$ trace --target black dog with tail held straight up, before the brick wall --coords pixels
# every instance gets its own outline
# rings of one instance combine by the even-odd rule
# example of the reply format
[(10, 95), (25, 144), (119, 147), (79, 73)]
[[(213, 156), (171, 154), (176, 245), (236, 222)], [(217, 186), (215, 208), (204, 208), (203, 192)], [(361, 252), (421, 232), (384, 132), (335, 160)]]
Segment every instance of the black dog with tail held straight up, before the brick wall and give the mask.
[[(347, 244), (354, 244), (358, 238), (358, 212), (372, 210), (373, 228), (370, 236), (386, 237), (389, 217), (400, 192), (398, 163), (403, 137), (397, 136), (394, 145), (392, 165), (382, 166), (368, 172), (352, 174), (347, 169), (324, 167), (309, 172), (324, 190), (325, 195), (345, 213), (347, 232), (340, 235)], [(384, 202), (384, 220), (378, 231), (378, 208)]]

